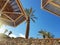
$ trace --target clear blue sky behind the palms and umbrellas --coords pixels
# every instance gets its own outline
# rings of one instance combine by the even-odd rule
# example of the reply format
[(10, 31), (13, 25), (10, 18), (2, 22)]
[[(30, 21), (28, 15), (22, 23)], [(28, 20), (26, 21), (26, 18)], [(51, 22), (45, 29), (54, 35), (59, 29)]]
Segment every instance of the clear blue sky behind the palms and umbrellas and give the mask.
[[(48, 32), (51, 32), (55, 35), (55, 38), (60, 38), (60, 17), (49, 13), (41, 8), (41, 0), (21, 0), (21, 3), (24, 8), (32, 7), (33, 10), (36, 10), (34, 13), (38, 18), (35, 23), (31, 21), (30, 25), (30, 37), (41, 38), (38, 35), (38, 31), (44, 29)], [(17, 27), (7, 26), (8, 30), (11, 30), (13, 34), (19, 36), (19, 34), (25, 35), (26, 31), (26, 22), (23, 22)]]

